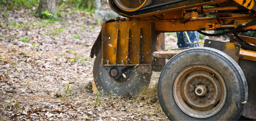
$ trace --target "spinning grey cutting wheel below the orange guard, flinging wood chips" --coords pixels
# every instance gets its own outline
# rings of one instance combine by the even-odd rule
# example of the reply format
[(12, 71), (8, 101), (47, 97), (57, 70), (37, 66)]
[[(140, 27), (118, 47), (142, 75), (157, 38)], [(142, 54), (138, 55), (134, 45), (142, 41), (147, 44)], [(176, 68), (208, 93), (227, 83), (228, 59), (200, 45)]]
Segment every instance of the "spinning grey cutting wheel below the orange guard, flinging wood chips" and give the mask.
[(100, 49), (93, 66), (93, 77), (96, 87), (107, 93), (112, 91), (118, 95), (125, 93), (135, 95), (148, 88), (152, 73), (138, 73), (137, 68), (134, 67), (129, 67), (129, 70), (130, 75), (125, 82), (119, 83), (110, 78), (108, 71), (102, 67), (102, 49)]

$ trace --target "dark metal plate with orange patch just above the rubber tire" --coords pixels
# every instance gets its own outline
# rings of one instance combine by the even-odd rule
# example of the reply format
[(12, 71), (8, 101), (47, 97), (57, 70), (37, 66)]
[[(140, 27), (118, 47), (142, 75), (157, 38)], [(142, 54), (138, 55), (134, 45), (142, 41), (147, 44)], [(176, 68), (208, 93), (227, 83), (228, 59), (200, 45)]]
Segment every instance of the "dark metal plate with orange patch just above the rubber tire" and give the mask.
[(204, 47), (211, 47), (219, 51), (222, 51), (230, 57), (232, 57), (236, 62), (238, 62), (241, 48), (240, 44), (206, 39), (204, 41)]

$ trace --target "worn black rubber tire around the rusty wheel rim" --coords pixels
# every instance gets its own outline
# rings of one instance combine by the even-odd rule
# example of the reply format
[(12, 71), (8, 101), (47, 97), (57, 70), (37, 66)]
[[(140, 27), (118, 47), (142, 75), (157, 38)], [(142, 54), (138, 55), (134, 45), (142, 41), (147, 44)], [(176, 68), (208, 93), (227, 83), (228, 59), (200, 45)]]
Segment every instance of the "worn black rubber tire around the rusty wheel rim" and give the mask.
[[(194, 118), (184, 113), (173, 96), (173, 83), (181, 70), (191, 65), (205, 65), (216, 70), (224, 79), (227, 89), (222, 109), (208, 118)], [(245, 108), (248, 89), (239, 65), (222, 51), (209, 47), (194, 47), (173, 56), (163, 68), (158, 81), (160, 105), (170, 120), (237, 120)]]

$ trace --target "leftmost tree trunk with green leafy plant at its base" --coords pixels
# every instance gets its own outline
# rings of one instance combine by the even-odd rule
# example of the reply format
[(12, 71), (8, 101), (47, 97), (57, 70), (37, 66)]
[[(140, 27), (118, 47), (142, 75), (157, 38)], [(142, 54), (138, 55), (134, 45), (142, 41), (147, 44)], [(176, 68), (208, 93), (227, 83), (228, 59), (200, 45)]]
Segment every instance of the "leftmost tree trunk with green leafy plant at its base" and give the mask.
[(55, 15), (55, 0), (40, 0), (35, 16), (49, 18), (53, 15)]

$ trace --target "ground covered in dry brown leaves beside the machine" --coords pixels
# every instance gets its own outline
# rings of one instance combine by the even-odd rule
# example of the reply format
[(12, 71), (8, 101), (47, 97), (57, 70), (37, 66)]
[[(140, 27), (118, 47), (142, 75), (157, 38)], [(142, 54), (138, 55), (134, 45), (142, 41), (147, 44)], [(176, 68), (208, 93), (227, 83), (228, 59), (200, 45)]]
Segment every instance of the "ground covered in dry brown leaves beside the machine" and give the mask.
[[(65, 11), (52, 21), (30, 10), (8, 12), (0, 17), (0, 120), (168, 120), (158, 100), (150, 101), (159, 72), (139, 96), (87, 90), (101, 29), (90, 13)], [(174, 40), (168, 36), (166, 46), (177, 48)]]

